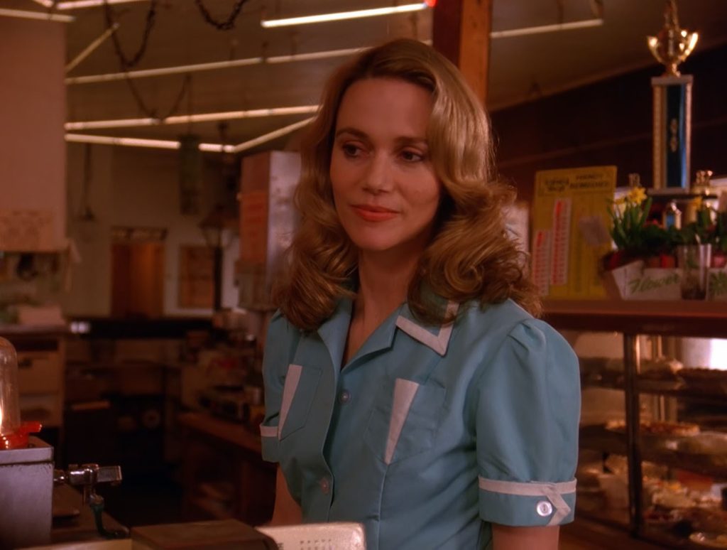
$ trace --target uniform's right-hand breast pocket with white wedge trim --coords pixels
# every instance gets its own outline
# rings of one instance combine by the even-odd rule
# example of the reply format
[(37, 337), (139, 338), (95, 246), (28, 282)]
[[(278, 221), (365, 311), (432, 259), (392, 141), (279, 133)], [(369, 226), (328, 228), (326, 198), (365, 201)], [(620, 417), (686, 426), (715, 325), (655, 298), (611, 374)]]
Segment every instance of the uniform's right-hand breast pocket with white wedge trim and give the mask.
[(404, 378), (396, 378), (383, 389), (366, 426), (366, 445), (387, 464), (431, 449), (446, 389)]

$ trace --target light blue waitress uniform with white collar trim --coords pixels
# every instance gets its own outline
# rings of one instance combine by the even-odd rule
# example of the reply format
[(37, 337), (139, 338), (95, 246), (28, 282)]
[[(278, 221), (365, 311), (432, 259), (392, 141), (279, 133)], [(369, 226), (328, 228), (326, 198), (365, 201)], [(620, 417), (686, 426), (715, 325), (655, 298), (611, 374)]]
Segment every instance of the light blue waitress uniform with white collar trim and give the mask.
[(262, 456), (304, 522), (361, 522), (369, 550), (481, 549), (490, 523), (573, 519), (577, 358), (512, 301), (427, 326), (405, 305), (341, 364), (351, 302), (317, 332), (273, 316)]

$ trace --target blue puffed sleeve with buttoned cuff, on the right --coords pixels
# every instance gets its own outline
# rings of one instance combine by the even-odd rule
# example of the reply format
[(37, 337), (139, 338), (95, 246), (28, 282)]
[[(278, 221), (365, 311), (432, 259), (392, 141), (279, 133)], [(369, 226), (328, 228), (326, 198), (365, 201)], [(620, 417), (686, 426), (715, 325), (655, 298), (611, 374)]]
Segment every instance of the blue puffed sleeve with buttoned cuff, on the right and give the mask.
[(483, 364), (475, 430), (480, 516), (512, 526), (571, 522), (576, 500), (580, 378), (550, 325), (515, 325)]

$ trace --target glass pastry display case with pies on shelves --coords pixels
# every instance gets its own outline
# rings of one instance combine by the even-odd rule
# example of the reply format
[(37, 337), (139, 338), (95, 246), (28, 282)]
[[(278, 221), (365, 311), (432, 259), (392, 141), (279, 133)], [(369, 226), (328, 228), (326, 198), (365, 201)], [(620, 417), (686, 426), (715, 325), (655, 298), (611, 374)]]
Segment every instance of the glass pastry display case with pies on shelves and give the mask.
[(581, 365), (579, 516), (727, 548), (726, 306), (546, 302)]

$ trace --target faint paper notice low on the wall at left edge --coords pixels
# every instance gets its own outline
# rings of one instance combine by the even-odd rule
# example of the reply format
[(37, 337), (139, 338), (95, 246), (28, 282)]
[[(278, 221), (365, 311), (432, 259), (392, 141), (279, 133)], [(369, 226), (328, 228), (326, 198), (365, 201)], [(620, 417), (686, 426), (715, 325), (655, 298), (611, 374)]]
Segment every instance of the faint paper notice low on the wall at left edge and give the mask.
[(51, 252), (53, 233), (52, 210), (0, 210), (0, 250)]

